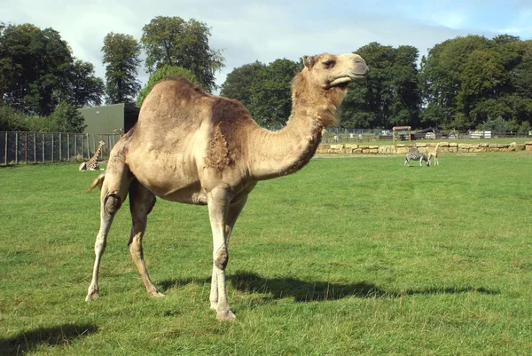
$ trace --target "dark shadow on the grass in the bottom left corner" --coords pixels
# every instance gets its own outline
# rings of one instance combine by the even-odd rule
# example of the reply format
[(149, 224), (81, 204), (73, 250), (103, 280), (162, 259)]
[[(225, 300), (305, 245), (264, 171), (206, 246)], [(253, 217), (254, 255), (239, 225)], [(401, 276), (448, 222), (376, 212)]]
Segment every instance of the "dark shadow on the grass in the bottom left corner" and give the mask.
[(16, 336), (0, 338), (0, 353), (3, 356), (21, 355), (31, 352), (40, 344), (49, 346), (70, 344), (76, 338), (88, 336), (98, 331), (92, 324), (65, 324), (53, 328), (35, 328), (23, 331)]

